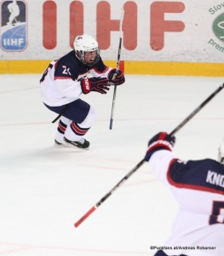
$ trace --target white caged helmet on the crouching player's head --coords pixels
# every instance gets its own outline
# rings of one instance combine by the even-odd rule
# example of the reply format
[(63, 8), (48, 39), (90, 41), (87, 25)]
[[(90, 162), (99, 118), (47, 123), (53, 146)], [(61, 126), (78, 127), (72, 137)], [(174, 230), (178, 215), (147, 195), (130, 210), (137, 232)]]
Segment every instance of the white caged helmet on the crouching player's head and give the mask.
[[(100, 49), (98, 47), (98, 43), (95, 41), (95, 38), (87, 34), (83, 34), (75, 38), (74, 50), (78, 60), (88, 67), (95, 66), (95, 64), (100, 60)], [(96, 53), (95, 59), (91, 62), (86, 62), (84, 59), (84, 53), (88, 51), (95, 51)]]

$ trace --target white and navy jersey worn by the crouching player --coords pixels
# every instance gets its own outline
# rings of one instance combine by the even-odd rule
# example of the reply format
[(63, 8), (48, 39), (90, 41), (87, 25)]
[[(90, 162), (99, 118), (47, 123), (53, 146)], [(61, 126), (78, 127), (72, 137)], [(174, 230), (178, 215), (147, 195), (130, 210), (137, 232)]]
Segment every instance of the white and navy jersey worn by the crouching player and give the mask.
[(52, 61), (40, 80), (43, 102), (51, 107), (62, 106), (77, 100), (82, 89), (80, 79), (107, 78), (112, 67), (106, 67), (100, 58), (95, 67), (81, 63), (74, 50), (57, 61)]

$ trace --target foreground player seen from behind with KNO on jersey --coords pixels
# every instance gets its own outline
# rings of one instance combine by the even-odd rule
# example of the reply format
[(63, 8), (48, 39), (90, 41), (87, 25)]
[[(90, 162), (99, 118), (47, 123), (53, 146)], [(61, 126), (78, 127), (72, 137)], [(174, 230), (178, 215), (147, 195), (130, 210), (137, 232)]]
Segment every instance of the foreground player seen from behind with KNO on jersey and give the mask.
[(155, 255), (224, 255), (224, 140), (218, 161), (179, 160), (174, 144), (175, 137), (159, 132), (149, 141), (145, 156), (180, 206), (164, 250)]

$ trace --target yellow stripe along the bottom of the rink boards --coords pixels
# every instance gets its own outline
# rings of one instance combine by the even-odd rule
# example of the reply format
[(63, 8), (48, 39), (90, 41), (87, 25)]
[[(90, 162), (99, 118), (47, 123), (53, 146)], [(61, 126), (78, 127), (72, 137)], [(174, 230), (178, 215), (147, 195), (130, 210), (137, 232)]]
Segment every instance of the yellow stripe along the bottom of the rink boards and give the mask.
[[(0, 61), (0, 73), (43, 73), (51, 60)], [(223, 63), (123, 61), (126, 74), (224, 77)], [(117, 61), (105, 61), (116, 67)]]

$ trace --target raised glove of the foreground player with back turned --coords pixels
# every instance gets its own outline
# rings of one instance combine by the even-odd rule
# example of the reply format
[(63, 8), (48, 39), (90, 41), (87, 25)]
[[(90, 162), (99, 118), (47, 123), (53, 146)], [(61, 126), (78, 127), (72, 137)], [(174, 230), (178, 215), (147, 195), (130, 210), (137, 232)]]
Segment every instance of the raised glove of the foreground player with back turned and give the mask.
[(145, 160), (150, 160), (152, 154), (160, 149), (167, 149), (169, 151), (172, 151), (174, 145), (174, 136), (170, 136), (167, 132), (164, 131), (158, 132), (158, 134), (152, 137), (152, 139), (148, 142)]

